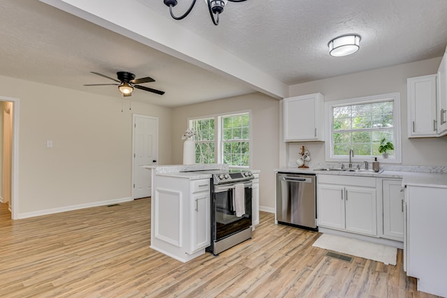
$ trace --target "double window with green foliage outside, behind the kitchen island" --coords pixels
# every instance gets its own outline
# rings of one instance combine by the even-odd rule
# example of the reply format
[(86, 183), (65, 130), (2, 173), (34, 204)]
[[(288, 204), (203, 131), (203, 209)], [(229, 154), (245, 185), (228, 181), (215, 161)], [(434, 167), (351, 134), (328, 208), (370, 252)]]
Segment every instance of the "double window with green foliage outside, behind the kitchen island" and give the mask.
[(226, 163), (229, 167), (249, 167), (249, 112), (191, 119), (189, 127), (196, 132), (196, 163)]

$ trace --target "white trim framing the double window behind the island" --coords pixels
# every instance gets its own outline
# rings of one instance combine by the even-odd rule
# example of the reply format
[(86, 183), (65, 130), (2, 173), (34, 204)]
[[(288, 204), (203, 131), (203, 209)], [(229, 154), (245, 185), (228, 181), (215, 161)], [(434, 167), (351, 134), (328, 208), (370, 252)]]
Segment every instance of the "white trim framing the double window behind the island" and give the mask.
[[(221, 152), (223, 150), (223, 144), (222, 144), (222, 118), (227, 116), (237, 116), (239, 114), (249, 114), (249, 166), (248, 167), (235, 167), (232, 165), (228, 165), (230, 169), (247, 169), (250, 168), (253, 164), (253, 126), (252, 119), (251, 119), (251, 110), (242, 110), (237, 112), (226, 112), (221, 114), (212, 114), (208, 116), (200, 116), (200, 117), (190, 117), (187, 119), (186, 127), (191, 128), (190, 123), (193, 120), (198, 119), (210, 119), (214, 118), (214, 156), (217, 157), (217, 163), (223, 163), (223, 158), (221, 156)], [(216, 140), (217, 138), (217, 140)]]

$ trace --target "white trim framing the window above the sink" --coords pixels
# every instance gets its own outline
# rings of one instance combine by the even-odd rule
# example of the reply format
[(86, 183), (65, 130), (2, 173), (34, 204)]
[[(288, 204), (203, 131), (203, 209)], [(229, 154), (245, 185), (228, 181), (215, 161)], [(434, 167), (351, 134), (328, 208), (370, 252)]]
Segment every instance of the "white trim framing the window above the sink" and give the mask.
[[(402, 144), (401, 144), (401, 121), (400, 121), (400, 93), (380, 94), (376, 96), (365, 96), (359, 98), (349, 98), (344, 100), (334, 100), (325, 103), (325, 119), (328, 121), (325, 133), (325, 161), (345, 163), (349, 161), (349, 156), (334, 157), (332, 154), (332, 107), (339, 107), (344, 105), (357, 105), (361, 103), (374, 103), (383, 100), (394, 100), (394, 126), (395, 126), (395, 150), (394, 156), (383, 158), (381, 155), (377, 156), (377, 160), (381, 163), (402, 163)], [(370, 156), (354, 156), (351, 158), (353, 162), (361, 163), (363, 161), (374, 161)]]

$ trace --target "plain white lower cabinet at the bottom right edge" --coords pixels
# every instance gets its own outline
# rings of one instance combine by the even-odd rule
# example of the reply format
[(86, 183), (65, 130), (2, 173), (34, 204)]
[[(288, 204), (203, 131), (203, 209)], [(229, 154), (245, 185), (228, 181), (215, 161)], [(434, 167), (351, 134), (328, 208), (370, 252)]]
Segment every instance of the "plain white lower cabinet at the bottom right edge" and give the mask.
[(406, 274), (418, 290), (447, 297), (447, 188), (407, 186)]

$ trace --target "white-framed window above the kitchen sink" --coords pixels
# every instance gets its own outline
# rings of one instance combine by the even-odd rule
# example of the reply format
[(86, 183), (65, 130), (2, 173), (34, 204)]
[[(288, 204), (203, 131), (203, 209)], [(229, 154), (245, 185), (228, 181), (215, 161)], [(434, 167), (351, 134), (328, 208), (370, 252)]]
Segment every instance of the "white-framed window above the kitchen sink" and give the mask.
[(379, 146), (385, 140), (395, 145), (393, 151), (388, 151), (390, 157), (385, 162), (401, 162), (399, 94), (329, 102), (326, 115), (330, 121), (330, 140), (326, 142), (328, 161), (346, 160), (350, 149), (354, 160), (381, 158)]

